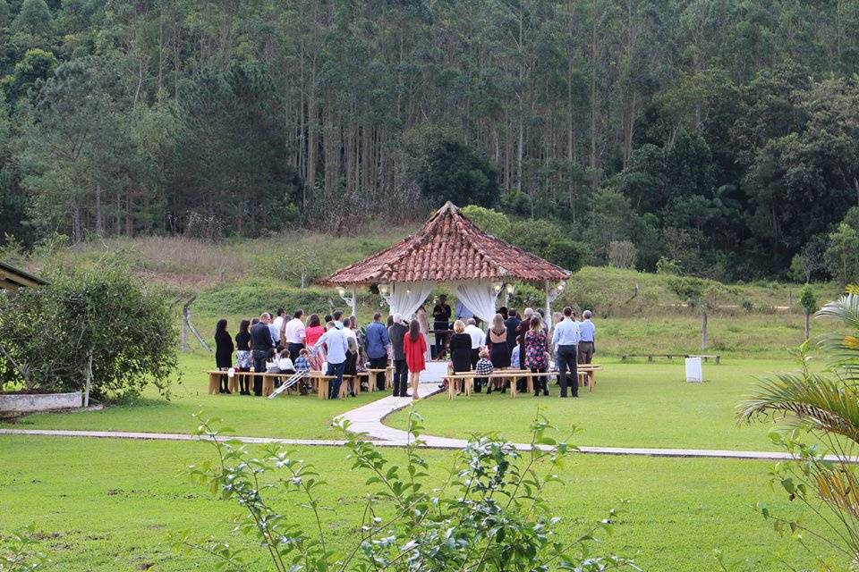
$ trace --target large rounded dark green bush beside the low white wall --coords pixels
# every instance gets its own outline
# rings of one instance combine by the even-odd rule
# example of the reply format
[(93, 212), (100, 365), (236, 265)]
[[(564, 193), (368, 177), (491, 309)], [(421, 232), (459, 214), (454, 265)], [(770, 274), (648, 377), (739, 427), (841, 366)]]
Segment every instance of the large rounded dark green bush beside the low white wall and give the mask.
[(162, 391), (176, 369), (174, 315), (123, 268), (55, 273), (47, 286), (0, 296), (4, 389), (80, 391), (92, 360), (96, 397)]

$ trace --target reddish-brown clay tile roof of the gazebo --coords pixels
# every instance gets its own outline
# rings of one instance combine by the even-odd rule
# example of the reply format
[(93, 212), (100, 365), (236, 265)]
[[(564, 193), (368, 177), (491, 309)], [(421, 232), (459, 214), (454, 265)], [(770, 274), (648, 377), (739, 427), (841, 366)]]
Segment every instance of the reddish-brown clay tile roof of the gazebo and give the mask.
[(331, 274), (324, 283), (355, 286), (379, 282), (456, 280), (566, 280), (570, 273), (481, 231), (451, 202), (412, 236)]

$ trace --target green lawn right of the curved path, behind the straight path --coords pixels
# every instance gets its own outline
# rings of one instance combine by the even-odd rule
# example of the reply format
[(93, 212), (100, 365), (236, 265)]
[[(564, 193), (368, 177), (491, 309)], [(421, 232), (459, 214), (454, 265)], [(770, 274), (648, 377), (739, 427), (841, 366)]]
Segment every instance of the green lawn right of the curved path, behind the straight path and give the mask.
[[(540, 412), (558, 428), (581, 429), (575, 438), (579, 445), (772, 450), (765, 425), (735, 425), (736, 404), (755, 375), (795, 367), (789, 361), (727, 359), (704, 365), (706, 383), (685, 383), (682, 359), (600, 363), (605, 369), (597, 374), (595, 391), (581, 388), (578, 400), (559, 399), (552, 379), (549, 398), (481, 393), (450, 401), (439, 394), (416, 408), (426, 418), (427, 433), (447, 437), (501, 431), (524, 441)], [(387, 424), (404, 428), (406, 416), (396, 413)]]

